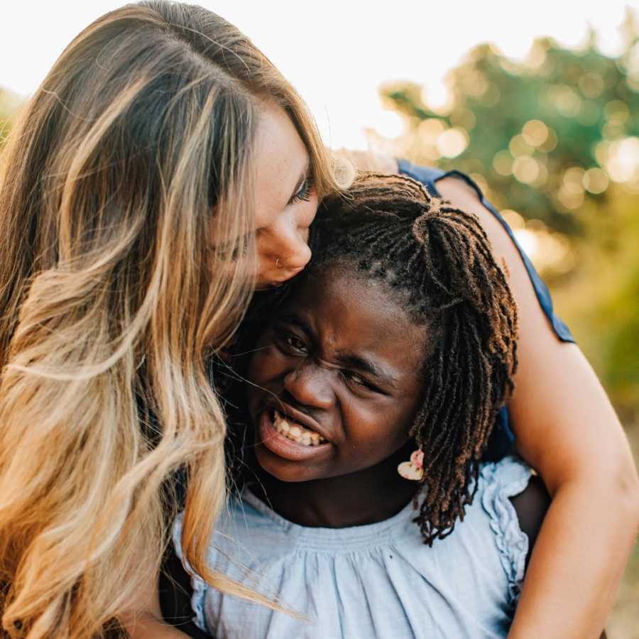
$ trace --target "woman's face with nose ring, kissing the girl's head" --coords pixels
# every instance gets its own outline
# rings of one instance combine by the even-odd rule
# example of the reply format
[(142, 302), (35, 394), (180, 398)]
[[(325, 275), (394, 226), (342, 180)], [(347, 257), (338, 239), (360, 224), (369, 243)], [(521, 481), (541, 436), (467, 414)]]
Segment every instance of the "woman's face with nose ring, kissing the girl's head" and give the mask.
[(286, 112), (268, 103), (256, 146), (258, 288), (277, 285), (310, 260), (308, 227), (317, 212), (309, 154)]

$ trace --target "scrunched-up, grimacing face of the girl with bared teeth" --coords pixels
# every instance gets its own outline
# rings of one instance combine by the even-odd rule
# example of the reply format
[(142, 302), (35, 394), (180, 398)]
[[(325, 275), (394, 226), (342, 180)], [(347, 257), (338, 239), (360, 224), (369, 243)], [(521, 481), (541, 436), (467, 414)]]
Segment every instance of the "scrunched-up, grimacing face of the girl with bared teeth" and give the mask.
[(397, 452), (422, 400), (426, 346), (427, 329), (383, 283), (340, 268), (305, 278), (249, 365), (263, 469), (282, 481), (326, 479)]

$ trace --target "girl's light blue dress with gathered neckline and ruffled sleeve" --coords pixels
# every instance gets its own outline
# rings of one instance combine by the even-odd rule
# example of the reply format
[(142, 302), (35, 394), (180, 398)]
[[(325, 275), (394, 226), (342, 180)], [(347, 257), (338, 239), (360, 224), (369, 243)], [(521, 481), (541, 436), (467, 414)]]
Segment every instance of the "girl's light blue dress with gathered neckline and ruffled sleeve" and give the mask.
[[(305, 528), (245, 491), (219, 519), (209, 562), (305, 618), (220, 594), (194, 575), (195, 621), (217, 639), (504, 638), (528, 554), (509, 498), (529, 479), (514, 457), (481, 466), (463, 522), (432, 547), (412, 504), (381, 523)], [(181, 556), (180, 530), (178, 518)]]

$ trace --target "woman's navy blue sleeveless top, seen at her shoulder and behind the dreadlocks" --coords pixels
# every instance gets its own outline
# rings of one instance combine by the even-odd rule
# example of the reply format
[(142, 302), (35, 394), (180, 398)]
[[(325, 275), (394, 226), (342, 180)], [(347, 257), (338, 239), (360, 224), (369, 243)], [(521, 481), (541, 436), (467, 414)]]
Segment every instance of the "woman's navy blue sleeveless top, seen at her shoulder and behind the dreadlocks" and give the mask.
[[(559, 319), (559, 317), (557, 317), (557, 315), (555, 315), (555, 312), (552, 310), (550, 292), (542, 278), (540, 278), (537, 271), (535, 271), (535, 266), (532, 266), (530, 258), (525, 254), (521, 246), (519, 246), (519, 243), (515, 238), (515, 234), (513, 234), (513, 230), (510, 229), (510, 226), (508, 226), (506, 220), (501, 217), (498, 210), (493, 207), (488, 200), (486, 200), (486, 197), (484, 197), (484, 194), (481, 192), (479, 186), (476, 185), (476, 182), (471, 180), (471, 178), (469, 178), (469, 176), (465, 173), (461, 173), (461, 171), (457, 170), (444, 172), (437, 168), (417, 166), (412, 162), (408, 162), (408, 160), (398, 160), (398, 166), (400, 173), (408, 175), (409, 178), (413, 178), (413, 180), (417, 180), (417, 182), (421, 182), (426, 187), (426, 190), (430, 193), (430, 195), (434, 195), (435, 197), (442, 197), (439, 194), (439, 191), (437, 191), (436, 183), (438, 180), (442, 180), (443, 178), (457, 178), (471, 186), (476, 192), (481, 204), (484, 204), (484, 207), (486, 207), (486, 209), (488, 209), (488, 211), (490, 211), (498, 219), (501, 226), (503, 226), (506, 233), (508, 233), (508, 236), (510, 236), (510, 239), (517, 247), (526, 271), (528, 271), (528, 275), (530, 276), (532, 287), (535, 289), (537, 300), (539, 301), (543, 312), (545, 312), (552, 330), (555, 332), (557, 337), (562, 340), (562, 342), (574, 342), (574, 338), (572, 337), (569, 328), (566, 324), (564, 324), (564, 322), (562, 322), (562, 320)], [(488, 442), (486, 459), (501, 459), (513, 448), (514, 441), (515, 436), (513, 435), (513, 431), (510, 429), (508, 421), (508, 408), (504, 406), (499, 411), (497, 423), (491, 435), (491, 439)]]

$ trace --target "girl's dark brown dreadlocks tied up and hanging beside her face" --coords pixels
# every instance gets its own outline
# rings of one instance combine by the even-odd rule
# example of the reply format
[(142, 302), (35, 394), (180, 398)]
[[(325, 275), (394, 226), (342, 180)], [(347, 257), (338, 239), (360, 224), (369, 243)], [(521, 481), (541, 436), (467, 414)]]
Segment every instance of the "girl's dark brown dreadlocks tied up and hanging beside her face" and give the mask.
[(479, 461), (513, 391), (517, 313), (479, 220), (403, 176), (362, 174), (324, 200), (310, 268), (349, 266), (388, 283), (428, 324), (425, 393), (410, 432), (424, 452), (425, 542), (452, 532), (471, 503)]

